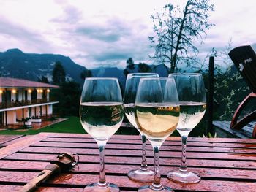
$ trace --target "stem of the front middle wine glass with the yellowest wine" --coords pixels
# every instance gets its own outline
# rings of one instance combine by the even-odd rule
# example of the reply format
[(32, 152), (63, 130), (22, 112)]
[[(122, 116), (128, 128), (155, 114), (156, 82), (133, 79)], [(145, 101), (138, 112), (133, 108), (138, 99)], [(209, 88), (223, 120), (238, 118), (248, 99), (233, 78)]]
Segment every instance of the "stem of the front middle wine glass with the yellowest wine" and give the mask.
[(151, 188), (154, 190), (159, 190), (162, 188), (161, 184), (161, 174), (159, 172), (159, 146), (154, 146), (154, 180)]

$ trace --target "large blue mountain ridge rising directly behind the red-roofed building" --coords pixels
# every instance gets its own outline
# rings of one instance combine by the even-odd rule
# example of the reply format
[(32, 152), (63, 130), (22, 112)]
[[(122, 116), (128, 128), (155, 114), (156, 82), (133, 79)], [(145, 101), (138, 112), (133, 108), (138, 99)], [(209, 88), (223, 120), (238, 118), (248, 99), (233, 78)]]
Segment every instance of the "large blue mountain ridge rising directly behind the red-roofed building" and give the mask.
[(61, 62), (69, 80), (83, 83), (80, 73), (86, 68), (75, 64), (69, 57), (56, 54), (23, 53), (19, 49), (10, 49), (0, 53), (0, 76), (34, 81), (45, 76), (51, 81), (56, 61)]

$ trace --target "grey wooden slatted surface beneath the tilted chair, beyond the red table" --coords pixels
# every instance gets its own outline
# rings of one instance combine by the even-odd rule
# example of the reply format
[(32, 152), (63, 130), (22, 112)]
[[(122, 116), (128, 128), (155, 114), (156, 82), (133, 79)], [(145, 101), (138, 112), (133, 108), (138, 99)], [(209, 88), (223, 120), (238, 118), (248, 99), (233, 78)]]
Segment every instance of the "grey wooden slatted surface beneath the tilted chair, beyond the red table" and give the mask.
[(214, 120), (213, 125), (217, 135), (232, 138), (252, 138), (252, 131), (256, 124), (255, 121), (244, 126), (241, 130), (230, 128), (230, 123), (231, 121)]

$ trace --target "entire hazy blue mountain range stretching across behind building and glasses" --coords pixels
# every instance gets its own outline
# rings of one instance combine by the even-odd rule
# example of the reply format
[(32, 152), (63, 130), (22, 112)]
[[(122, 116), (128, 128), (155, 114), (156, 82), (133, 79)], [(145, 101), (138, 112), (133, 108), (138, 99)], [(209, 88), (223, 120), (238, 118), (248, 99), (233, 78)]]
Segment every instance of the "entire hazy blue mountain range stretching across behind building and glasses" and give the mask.
[[(75, 64), (72, 59), (64, 55), (23, 53), (19, 49), (10, 49), (0, 53), (0, 76), (14, 77), (37, 81), (45, 76), (52, 80), (53, 67), (56, 61), (60, 61), (67, 74), (67, 79), (83, 84), (80, 73), (86, 67)], [(165, 65), (151, 66), (151, 72), (157, 72), (160, 77), (167, 77), (169, 69)], [(138, 72), (138, 64), (131, 72)], [(121, 85), (125, 83), (124, 69), (117, 67), (100, 67), (91, 69), (93, 77), (116, 77)]]

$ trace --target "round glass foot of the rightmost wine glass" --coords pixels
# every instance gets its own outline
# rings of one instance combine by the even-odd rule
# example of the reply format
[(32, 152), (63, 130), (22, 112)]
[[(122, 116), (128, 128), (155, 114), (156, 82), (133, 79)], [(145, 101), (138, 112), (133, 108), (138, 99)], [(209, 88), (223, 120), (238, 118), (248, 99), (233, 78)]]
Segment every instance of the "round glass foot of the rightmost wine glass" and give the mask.
[(201, 177), (193, 172), (181, 172), (180, 170), (170, 171), (167, 173), (169, 180), (180, 183), (198, 183)]

